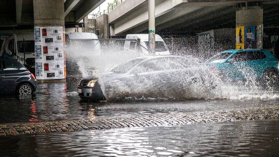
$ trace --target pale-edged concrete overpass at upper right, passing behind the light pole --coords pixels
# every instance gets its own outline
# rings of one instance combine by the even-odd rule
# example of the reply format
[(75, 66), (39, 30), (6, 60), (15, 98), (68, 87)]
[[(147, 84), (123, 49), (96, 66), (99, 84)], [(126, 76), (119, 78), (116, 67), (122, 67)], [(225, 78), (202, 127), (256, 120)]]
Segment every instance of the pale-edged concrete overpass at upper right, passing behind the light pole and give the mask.
[[(263, 7), (265, 28), (279, 26), (278, 0), (156, 0), (156, 33), (173, 35), (235, 28), (236, 10), (246, 4)], [(110, 35), (147, 33), (148, 0), (126, 0), (104, 16)]]

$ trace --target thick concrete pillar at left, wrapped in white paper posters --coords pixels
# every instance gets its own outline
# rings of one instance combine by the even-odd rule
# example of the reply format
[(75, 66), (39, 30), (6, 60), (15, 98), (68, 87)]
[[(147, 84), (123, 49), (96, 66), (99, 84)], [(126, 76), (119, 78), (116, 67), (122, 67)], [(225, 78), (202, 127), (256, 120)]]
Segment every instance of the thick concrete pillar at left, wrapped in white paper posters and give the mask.
[(63, 0), (33, 0), (35, 70), (38, 83), (65, 82)]

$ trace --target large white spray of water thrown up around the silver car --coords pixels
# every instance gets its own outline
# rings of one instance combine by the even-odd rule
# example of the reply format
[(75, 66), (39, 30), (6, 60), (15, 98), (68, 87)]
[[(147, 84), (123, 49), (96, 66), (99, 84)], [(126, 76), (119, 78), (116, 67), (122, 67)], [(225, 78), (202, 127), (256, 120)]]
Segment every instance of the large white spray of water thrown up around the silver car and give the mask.
[[(174, 68), (168, 71), (163, 63), (156, 68), (166, 69), (156, 73), (139, 67), (138, 70), (147, 72), (138, 75), (135, 73), (109, 74), (121, 63), (132, 58), (143, 56), (136, 51), (123, 50), (117, 47), (102, 47), (101, 53), (91, 53), (87, 47), (73, 44), (67, 47), (67, 60), (72, 63), (71, 70), (79, 71), (83, 77), (95, 75), (103, 94), (108, 100), (115, 99), (276, 99), (279, 98), (274, 88), (263, 87), (253, 74), (253, 69), (239, 69), (246, 81), (233, 82), (223, 79), (214, 72), (212, 66), (198, 64), (200, 58), (186, 56), (186, 69)], [(176, 60), (172, 60), (175, 65)], [(170, 64), (172, 64), (169, 62)], [(161, 67), (160, 67), (161, 66)]]

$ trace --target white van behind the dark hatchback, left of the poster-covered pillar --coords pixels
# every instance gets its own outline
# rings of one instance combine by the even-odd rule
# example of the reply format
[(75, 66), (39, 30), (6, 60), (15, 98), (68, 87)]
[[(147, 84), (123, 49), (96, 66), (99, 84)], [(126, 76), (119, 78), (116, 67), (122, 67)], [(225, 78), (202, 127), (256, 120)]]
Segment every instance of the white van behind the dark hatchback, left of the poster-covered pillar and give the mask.
[[(34, 33), (13, 34), (16, 55), (13, 58), (18, 59), (22, 64), (35, 64), (35, 42)], [(25, 53), (24, 53), (25, 52)], [(25, 58), (25, 62), (24, 62)]]

